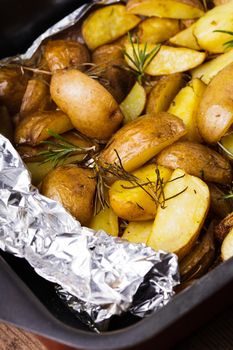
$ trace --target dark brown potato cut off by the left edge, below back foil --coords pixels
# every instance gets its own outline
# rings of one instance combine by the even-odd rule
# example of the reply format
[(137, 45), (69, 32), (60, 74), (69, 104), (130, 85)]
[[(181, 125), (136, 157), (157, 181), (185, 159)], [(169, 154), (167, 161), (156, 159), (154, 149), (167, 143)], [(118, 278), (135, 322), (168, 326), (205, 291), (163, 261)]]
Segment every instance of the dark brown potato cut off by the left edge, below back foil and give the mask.
[(27, 81), (28, 75), (19, 68), (0, 68), (0, 103), (10, 114), (19, 111)]

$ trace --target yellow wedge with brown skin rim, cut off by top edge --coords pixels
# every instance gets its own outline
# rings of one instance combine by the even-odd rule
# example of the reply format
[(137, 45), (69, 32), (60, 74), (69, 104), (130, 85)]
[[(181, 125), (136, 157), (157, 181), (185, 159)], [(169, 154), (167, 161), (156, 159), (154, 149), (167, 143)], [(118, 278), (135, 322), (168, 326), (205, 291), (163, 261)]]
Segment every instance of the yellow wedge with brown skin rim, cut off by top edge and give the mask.
[(129, 0), (127, 10), (137, 15), (178, 19), (197, 18), (204, 14), (198, 0)]

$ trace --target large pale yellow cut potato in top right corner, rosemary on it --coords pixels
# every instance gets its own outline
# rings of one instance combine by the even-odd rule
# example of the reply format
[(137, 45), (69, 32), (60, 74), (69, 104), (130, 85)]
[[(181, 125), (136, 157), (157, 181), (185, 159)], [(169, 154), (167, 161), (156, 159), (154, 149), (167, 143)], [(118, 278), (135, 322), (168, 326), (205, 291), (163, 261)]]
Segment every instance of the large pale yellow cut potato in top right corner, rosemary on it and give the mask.
[(202, 49), (212, 53), (224, 52), (224, 43), (231, 39), (229, 34), (215, 30), (233, 31), (233, 1), (214, 7), (200, 18), (194, 28), (194, 35)]

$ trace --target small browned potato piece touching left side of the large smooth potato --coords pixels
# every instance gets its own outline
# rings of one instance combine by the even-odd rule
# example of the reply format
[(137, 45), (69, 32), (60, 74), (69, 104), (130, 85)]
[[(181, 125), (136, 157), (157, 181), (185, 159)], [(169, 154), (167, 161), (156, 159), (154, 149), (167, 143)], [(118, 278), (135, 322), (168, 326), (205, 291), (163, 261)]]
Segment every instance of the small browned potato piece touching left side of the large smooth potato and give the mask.
[(52, 107), (52, 101), (48, 84), (39, 79), (29, 80), (20, 107), (20, 117), (48, 110), (50, 107)]

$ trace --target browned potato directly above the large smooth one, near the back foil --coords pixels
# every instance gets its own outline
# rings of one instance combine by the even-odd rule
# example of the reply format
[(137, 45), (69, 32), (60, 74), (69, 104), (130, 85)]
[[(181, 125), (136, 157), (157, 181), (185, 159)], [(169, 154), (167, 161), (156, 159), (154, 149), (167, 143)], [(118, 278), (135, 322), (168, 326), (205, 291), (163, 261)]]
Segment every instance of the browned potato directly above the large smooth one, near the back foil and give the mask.
[(87, 48), (71, 40), (49, 41), (45, 46), (44, 57), (51, 72), (69, 67), (84, 70), (82, 65), (90, 62)]

